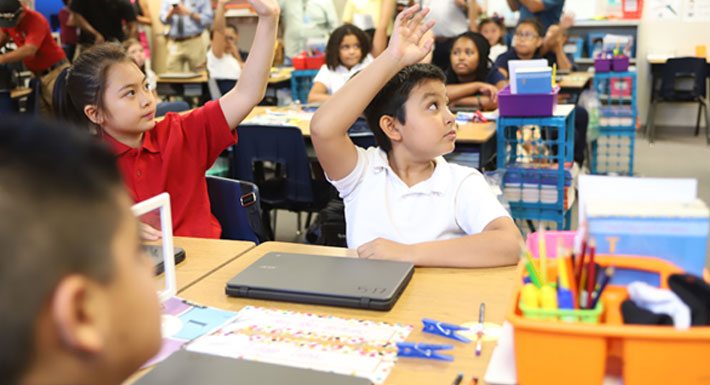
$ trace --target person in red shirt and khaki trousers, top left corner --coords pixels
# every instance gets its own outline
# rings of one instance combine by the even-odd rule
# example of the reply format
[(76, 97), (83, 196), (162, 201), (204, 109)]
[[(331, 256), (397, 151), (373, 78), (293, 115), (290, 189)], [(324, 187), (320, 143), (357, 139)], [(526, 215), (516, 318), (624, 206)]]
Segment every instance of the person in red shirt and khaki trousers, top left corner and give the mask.
[(40, 82), (40, 112), (52, 115), (54, 83), (69, 66), (64, 50), (52, 37), (49, 22), (18, 0), (0, 0), (0, 47), (12, 38), (17, 49), (0, 54), (0, 64), (23, 62)]

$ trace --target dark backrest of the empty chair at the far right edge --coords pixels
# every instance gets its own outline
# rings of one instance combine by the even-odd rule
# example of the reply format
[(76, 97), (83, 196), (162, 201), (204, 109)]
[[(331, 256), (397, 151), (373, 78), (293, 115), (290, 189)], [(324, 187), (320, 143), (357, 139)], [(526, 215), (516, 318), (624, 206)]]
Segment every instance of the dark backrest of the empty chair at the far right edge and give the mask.
[(706, 77), (707, 62), (704, 58), (668, 59), (661, 72), (661, 96), (670, 99), (705, 96)]

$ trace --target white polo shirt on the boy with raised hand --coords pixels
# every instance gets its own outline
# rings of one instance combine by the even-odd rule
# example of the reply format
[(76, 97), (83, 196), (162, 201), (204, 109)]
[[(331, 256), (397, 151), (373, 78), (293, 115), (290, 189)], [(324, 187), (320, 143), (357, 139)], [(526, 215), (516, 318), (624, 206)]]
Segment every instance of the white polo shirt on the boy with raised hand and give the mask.
[(330, 181), (345, 202), (349, 248), (376, 238), (413, 244), (478, 234), (494, 219), (510, 217), (476, 169), (440, 156), (429, 179), (408, 187), (379, 147), (357, 153), (350, 175)]

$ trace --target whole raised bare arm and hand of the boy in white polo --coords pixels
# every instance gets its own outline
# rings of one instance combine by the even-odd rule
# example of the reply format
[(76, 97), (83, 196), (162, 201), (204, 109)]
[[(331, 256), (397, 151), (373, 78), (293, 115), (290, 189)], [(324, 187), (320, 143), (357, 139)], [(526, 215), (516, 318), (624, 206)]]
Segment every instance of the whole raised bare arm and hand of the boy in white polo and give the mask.
[(385, 52), (345, 83), (313, 115), (311, 141), (318, 161), (330, 179), (344, 178), (357, 163), (357, 152), (348, 137), (348, 128), (383, 85), (402, 68), (416, 63), (431, 50), (434, 41), (422, 39), (422, 36), (434, 25), (434, 21), (422, 24), (429, 10), (417, 13), (418, 10), (419, 6), (415, 5), (402, 11), (397, 16)]

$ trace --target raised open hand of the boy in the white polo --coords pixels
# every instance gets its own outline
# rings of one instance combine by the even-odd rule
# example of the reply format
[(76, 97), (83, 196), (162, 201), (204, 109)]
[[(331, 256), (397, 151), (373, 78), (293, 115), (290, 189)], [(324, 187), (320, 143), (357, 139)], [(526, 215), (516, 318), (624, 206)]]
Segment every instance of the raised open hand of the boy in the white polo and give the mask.
[(433, 39), (422, 39), (424, 33), (434, 25), (433, 20), (422, 24), (429, 8), (418, 11), (419, 5), (414, 5), (397, 15), (386, 50), (404, 66), (419, 62), (434, 45)]

